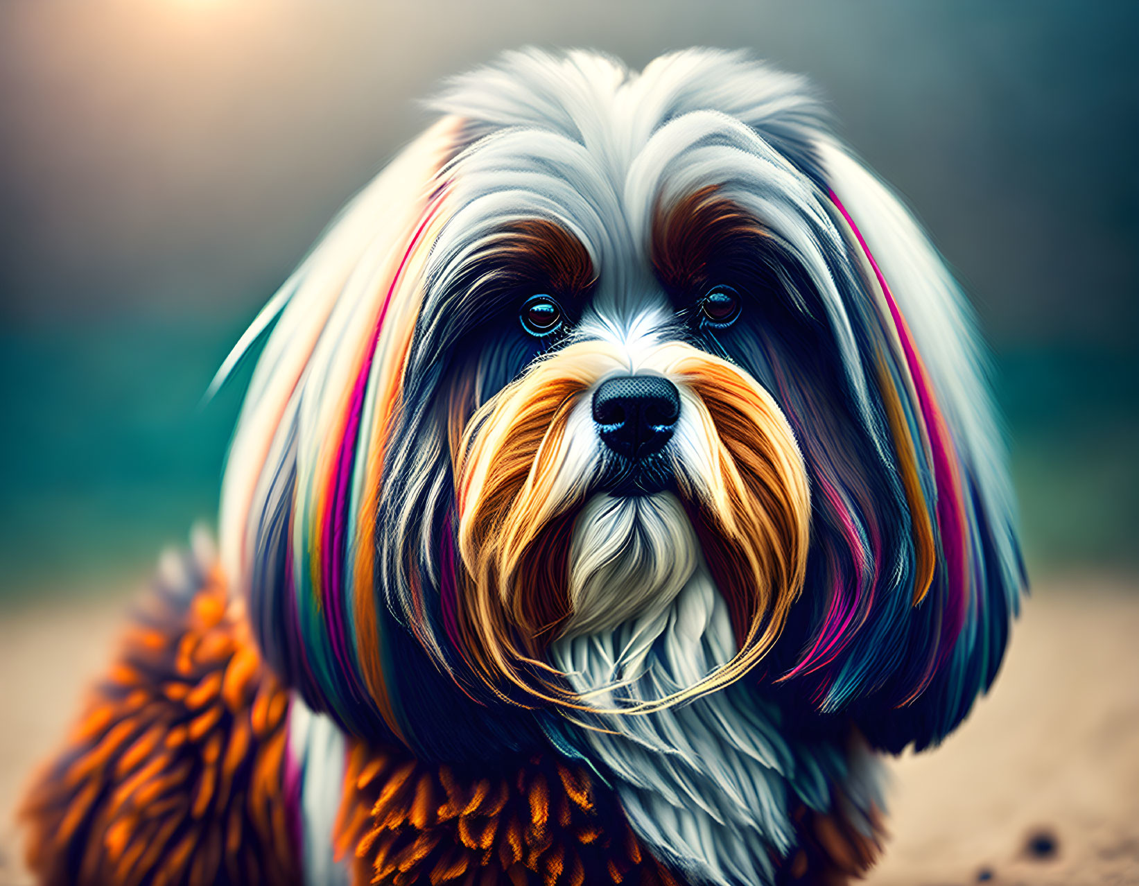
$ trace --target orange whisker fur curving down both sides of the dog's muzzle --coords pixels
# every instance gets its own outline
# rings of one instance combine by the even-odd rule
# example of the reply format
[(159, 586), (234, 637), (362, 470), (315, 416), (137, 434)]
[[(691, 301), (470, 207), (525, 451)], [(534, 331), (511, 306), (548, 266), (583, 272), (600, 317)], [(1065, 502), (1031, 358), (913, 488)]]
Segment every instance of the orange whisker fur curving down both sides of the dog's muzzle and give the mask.
[[(760, 661), (802, 588), (810, 526), (806, 471), (770, 394), (727, 361), (686, 344), (653, 347), (642, 362), (638, 369), (666, 375), (694, 396), (694, 420), (703, 426), (712, 463), (699, 476), (678, 465), (678, 479), (732, 609), (740, 651), (697, 687), (637, 711), (727, 686)], [(629, 369), (612, 345), (570, 345), (503, 388), (467, 425), (457, 471), (466, 567), (459, 622), (482, 678), (499, 691), (505, 681), (544, 703), (587, 707), (541, 661), (571, 613), (564, 563), (543, 553), (543, 539), (565, 532), (592, 492), (562, 476), (566, 424), (591, 386), (614, 371)], [(528, 675), (534, 672), (551, 676), (535, 680)]]

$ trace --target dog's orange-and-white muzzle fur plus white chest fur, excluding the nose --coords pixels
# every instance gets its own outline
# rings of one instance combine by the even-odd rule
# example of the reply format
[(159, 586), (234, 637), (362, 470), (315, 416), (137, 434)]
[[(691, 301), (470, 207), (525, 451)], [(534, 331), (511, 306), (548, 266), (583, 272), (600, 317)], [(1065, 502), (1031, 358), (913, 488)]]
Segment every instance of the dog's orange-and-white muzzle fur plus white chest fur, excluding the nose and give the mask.
[[(636, 497), (609, 485), (589, 408), (630, 369), (666, 376), (681, 400), (661, 453), (673, 487)], [(789, 791), (821, 803), (846, 777), (841, 755), (785, 739), (775, 706), (736, 683), (803, 581), (808, 479), (775, 401), (689, 345), (630, 367), (581, 343), (486, 403), (458, 450), (460, 624), (487, 675), (585, 727), (564, 740), (658, 858), (694, 881), (771, 881), (792, 845)]]

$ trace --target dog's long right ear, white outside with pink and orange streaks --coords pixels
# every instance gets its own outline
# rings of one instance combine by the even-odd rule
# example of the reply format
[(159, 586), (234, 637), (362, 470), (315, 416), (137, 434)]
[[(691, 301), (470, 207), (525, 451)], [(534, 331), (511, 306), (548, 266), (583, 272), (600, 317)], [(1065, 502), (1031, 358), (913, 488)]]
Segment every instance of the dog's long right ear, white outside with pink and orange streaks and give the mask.
[(782, 681), (809, 688), (822, 711), (853, 714), (877, 747), (920, 749), (965, 717), (1000, 665), (1024, 585), (1014, 497), (957, 284), (886, 186), (836, 142), (816, 149), (855, 281), (845, 295), (861, 372), (877, 400), (868, 461), (886, 470), (839, 467), (845, 486), (813, 489), (833, 512), (830, 535), (812, 540), (823, 550), (808, 588), (814, 579), (829, 590), (816, 589), (810, 640)]

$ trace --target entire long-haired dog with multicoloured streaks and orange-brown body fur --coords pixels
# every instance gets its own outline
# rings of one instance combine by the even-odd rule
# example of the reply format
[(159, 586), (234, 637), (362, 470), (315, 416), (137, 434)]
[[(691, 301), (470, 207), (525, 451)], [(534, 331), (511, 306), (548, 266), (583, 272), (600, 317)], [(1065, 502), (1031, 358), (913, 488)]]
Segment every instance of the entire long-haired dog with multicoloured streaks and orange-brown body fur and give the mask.
[(1023, 567), (968, 310), (803, 80), (513, 52), (254, 322), (220, 553), (24, 805), (64, 884), (843, 883)]

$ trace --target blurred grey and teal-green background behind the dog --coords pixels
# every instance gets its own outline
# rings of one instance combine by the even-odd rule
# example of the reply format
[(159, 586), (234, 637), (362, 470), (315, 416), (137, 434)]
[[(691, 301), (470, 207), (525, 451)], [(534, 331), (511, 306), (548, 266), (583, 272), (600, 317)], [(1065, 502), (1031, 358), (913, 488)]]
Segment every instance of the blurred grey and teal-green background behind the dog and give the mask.
[(525, 43), (809, 74), (994, 352), (1030, 569), (1139, 565), (1139, 6), (0, 5), (0, 596), (139, 574), (212, 522), (248, 368), (199, 401), (442, 76)]

